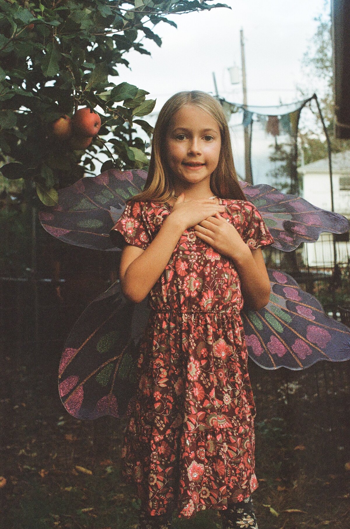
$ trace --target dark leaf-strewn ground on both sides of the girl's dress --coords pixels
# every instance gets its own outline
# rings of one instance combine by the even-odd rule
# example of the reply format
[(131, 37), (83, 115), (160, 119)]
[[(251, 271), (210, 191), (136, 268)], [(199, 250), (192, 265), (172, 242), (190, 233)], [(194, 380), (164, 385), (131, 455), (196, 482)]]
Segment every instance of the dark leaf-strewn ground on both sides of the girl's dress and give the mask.
[[(62, 406), (58, 353), (2, 361), (2, 521), (6, 529), (136, 529), (135, 491), (120, 474), (125, 421), (81, 421)], [(350, 366), (266, 371), (253, 361), (257, 407), (253, 494), (259, 529), (349, 529)], [(221, 528), (219, 513), (174, 529)]]

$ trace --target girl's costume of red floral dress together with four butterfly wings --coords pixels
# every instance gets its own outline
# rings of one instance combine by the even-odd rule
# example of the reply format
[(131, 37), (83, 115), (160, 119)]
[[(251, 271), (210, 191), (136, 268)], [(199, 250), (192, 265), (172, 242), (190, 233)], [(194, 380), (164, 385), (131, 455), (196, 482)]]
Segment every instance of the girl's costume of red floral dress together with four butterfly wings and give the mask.
[[(40, 221), (70, 244), (116, 251), (126, 241), (146, 249), (171, 213), (167, 203), (130, 200), (146, 177), (110, 170), (83, 178), (59, 191), (58, 205)], [(248, 201), (220, 199), (221, 216), (252, 249), (290, 251), (322, 231), (350, 227), (300, 197), (241, 186)], [(192, 517), (258, 487), (247, 354), (264, 369), (350, 358), (350, 329), (285, 272), (268, 273), (268, 305), (244, 311), (232, 261), (190, 228), (143, 302), (127, 299), (117, 281), (73, 326), (59, 368), (62, 403), (77, 418), (128, 416), (124, 473), (151, 515), (167, 512), (177, 497), (179, 517)]]

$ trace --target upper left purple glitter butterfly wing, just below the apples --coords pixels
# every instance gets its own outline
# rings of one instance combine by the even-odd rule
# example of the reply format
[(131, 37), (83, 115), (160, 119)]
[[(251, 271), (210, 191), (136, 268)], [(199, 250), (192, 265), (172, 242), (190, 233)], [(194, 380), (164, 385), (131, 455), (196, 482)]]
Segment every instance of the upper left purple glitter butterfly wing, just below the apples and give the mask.
[(117, 251), (109, 231), (125, 209), (125, 203), (143, 190), (147, 172), (111, 169), (96, 177), (81, 178), (59, 189), (59, 202), (39, 213), (44, 229), (69, 244), (96, 250)]

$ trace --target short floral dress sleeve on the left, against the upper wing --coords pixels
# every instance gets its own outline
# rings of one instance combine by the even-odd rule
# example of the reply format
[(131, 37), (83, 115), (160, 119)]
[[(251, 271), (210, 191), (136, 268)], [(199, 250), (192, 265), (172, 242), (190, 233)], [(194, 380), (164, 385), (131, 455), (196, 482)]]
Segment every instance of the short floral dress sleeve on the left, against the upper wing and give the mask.
[(126, 203), (117, 223), (109, 232), (112, 243), (123, 248), (125, 242), (146, 250), (151, 237), (147, 231), (146, 212), (143, 202)]

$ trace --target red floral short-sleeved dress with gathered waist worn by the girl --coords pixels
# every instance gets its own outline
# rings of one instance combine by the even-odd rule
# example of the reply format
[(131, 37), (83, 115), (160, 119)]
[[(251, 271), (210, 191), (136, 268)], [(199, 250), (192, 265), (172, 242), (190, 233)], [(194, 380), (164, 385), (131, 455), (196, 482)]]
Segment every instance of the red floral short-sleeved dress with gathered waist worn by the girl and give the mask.
[[(253, 204), (220, 203), (222, 217), (251, 249), (273, 242)], [(145, 250), (170, 213), (167, 203), (129, 201), (113, 235), (120, 247), (125, 240)], [(233, 261), (196, 237), (193, 227), (185, 230), (149, 304), (122, 473), (137, 485), (150, 515), (177, 508), (179, 518), (191, 518), (201, 509), (226, 509), (258, 487), (256, 408)]]

